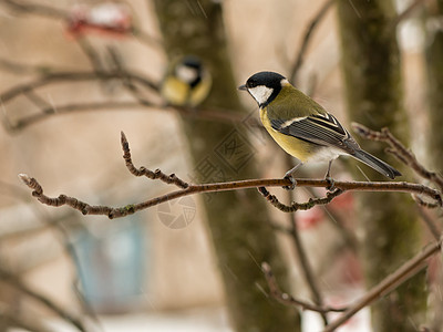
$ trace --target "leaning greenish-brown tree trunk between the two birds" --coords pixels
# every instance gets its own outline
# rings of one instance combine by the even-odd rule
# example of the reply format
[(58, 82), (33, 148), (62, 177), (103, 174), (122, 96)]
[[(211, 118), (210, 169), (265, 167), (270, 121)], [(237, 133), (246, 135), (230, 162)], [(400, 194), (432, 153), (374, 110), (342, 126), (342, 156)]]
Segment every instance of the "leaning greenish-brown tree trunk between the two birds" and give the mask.
[[(155, 8), (169, 60), (195, 54), (208, 65), (213, 89), (205, 106), (243, 112), (227, 51), (222, 6), (210, 0), (156, 0)], [(258, 177), (256, 149), (246, 126), (197, 117), (183, 117), (182, 122), (196, 180)], [(268, 261), (278, 280), (287, 286), (265, 200), (257, 190), (245, 190), (206, 195), (203, 201), (234, 329), (299, 331), (297, 311), (276, 303), (262, 292), (267, 289), (260, 270), (262, 261)]]

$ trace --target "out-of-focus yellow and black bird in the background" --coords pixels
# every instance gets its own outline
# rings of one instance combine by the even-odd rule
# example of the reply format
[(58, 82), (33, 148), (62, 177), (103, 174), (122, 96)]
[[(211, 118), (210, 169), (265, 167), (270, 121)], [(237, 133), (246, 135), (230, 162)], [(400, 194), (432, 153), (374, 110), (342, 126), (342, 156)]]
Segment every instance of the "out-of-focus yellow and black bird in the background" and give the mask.
[(161, 94), (171, 105), (195, 107), (207, 97), (210, 86), (212, 77), (203, 62), (186, 55), (167, 69)]

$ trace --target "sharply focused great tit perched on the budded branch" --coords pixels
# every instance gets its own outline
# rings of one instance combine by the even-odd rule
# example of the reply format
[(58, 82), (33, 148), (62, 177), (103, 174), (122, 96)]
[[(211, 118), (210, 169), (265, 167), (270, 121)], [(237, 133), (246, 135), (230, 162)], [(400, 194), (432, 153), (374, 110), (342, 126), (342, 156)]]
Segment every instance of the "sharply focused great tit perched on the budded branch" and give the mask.
[(260, 120), (272, 138), (300, 163), (288, 170), (285, 178), (308, 162), (329, 160), (327, 179), (330, 178), (332, 160), (350, 155), (389, 178), (400, 172), (362, 151), (351, 134), (322, 106), (293, 87), (286, 77), (274, 72), (259, 72), (250, 76), (245, 90), (260, 107)]

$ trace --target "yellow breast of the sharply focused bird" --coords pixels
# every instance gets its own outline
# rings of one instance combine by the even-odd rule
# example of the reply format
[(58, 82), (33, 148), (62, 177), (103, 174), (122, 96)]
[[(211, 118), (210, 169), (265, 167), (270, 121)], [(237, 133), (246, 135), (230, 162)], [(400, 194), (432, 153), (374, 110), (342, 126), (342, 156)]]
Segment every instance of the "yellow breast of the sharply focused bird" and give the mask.
[(266, 107), (260, 108), (260, 120), (265, 128), (272, 136), (274, 141), (276, 141), (284, 151), (299, 159), (301, 163), (307, 162), (316, 154), (317, 146), (275, 131), (270, 124)]

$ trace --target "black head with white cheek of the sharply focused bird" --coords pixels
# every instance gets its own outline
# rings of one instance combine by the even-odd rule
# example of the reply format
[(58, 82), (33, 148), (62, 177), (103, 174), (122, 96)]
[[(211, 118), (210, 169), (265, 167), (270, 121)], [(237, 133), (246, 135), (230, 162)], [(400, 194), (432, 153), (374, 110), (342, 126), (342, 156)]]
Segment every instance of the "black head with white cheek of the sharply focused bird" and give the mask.
[(285, 76), (275, 72), (259, 72), (246, 81), (239, 90), (247, 90), (260, 107), (267, 106), (281, 91)]

